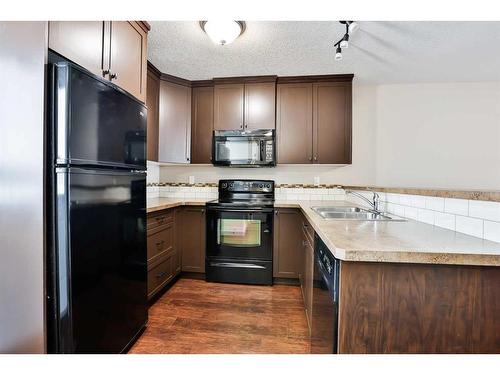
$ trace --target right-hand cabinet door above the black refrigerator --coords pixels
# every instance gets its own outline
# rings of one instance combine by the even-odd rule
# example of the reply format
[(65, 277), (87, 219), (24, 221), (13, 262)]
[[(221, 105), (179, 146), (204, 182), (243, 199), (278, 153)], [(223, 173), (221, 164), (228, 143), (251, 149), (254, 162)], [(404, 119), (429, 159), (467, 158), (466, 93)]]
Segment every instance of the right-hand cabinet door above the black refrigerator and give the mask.
[[(110, 39), (112, 82), (142, 102), (146, 99), (147, 33), (133, 21), (112, 21)], [(113, 78), (113, 75), (116, 75)]]

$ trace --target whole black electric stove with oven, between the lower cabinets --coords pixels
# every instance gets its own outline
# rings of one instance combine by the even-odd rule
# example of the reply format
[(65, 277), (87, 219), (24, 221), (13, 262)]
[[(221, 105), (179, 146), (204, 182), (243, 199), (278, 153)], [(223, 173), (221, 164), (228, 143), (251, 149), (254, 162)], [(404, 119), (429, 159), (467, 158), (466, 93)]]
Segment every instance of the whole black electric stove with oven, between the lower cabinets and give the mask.
[(274, 181), (220, 180), (206, 209), (207, 281), (271, 285)]

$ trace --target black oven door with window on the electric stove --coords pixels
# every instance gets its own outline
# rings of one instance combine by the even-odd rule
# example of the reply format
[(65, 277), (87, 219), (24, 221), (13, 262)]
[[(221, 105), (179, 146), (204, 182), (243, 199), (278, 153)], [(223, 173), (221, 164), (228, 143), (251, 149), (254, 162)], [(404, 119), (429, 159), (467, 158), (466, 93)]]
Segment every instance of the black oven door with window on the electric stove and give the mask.
[(273, 210), (207, 208), (207, 256), (271, 260)]

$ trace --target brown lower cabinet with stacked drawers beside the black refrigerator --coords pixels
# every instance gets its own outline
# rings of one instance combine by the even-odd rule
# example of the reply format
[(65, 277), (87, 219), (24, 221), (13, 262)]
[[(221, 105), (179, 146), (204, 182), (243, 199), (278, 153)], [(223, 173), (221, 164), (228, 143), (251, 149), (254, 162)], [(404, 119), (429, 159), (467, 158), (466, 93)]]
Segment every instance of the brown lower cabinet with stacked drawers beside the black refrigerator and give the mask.
[(180, 272), (173, 210), (148, 215), (147, 256), (148, 299), (151, 299)]

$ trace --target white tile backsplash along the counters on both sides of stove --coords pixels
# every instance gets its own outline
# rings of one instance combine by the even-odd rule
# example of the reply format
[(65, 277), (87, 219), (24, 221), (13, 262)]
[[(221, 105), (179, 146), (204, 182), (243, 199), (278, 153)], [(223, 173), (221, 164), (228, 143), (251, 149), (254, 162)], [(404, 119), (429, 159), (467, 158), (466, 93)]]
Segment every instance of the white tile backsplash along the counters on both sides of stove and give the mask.
[[(372, 193), (358, 191), (366, 198)], [(286, 185), (276, 187), (280, 201), (343, 201), (366, 206), (362, 199), (336, 185)], [(500, 242), (500, 202), (378, 192), (380, 209), (393, 215)], [(216, 183), (149, 183), (148, 198), (216, 199)]]

